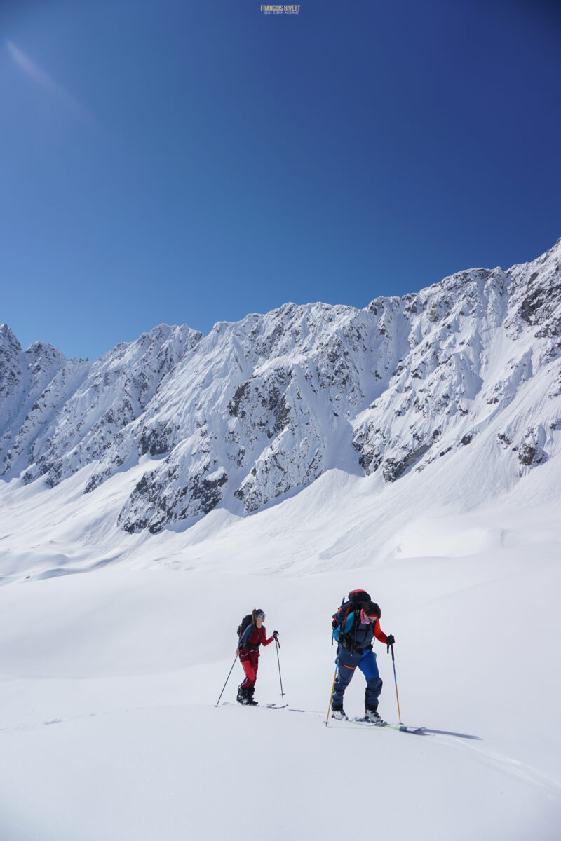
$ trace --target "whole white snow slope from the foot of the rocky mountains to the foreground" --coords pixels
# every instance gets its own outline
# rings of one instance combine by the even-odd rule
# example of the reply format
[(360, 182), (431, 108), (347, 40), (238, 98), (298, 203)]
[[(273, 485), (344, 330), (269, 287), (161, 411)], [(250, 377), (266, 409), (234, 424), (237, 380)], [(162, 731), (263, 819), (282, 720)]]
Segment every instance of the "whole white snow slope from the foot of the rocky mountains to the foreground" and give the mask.
[[(0, 488), (2, 841), (308, 841), (349, 813), (386, 841), (558, 841), (557, 458), (490, 496), (483, 446), (458, 452), (471, 484), (445, 458), (392, 485), (331, 470), (254, 516), (156, 536), (115, 526), (147, 458), (90, 495), (91, 467)], [(357, 587), (426, 735), (325, 727), (331, 614)], [(257, 606), (285, 700), (310, 714), (237, 706), (237, 663), (214, 708)], [(363, 691), (357, 674), (350, 715)], [(273, 645), (256, 696), (281, 700)]]

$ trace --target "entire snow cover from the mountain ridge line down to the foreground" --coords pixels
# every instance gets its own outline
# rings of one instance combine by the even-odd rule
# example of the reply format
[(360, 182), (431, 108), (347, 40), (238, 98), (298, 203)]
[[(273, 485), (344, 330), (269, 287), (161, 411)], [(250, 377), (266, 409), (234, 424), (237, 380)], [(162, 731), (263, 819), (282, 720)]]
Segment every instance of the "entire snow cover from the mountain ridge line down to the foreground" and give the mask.
[[(22, 352), (0, 331), (2, 841), (558, 841), (558, 264), (559, 243), (509, 272), (464, 272), (471, 315), (450, 315), (465, 298), (446, 303), (460, 275), (365, 310), (299, 309), (315, 350), (294, 343), (288, 310), (209, 337), (161, 326), (94, 363)], [(412, 304), (422, 313), (408, 320)], [(373, 309), (391, 347), (363, 336), (375, 364), (352, 373), (341, 325)], [(339, 353), (325, 352), (318, 320)], [(447, 320), (449, 357), (431, 326), (449, 332)], [(251, 370), (232, 373), (250, 356)], [(380, 383), (373, 371), (384, 378), (390, 357)], [(238, 465), (241, 446), (251, 458)], [(50, 467), (36, 468), (45, 452)], [(151, 521), (162, 476), (188, 487), (202, 458), (195, 490), (215, 504), (182, 517), (168, 499), (163, 525)], [(289, 477), (278, 495), (274, 465)], [(331, 614), (355, 588), (396, 637), (401, 717), (422, 735), (325, 727)], [(238, 663), (215, 707), (256, 606), (280, 632), (288, 708), (237, 705)], [(380, 712), (396, 722), (391, 658), (374, 650)], [(363, 690), (356, 674), (350, 715)], [(273, 645), (256, 697), (282, 701)]]

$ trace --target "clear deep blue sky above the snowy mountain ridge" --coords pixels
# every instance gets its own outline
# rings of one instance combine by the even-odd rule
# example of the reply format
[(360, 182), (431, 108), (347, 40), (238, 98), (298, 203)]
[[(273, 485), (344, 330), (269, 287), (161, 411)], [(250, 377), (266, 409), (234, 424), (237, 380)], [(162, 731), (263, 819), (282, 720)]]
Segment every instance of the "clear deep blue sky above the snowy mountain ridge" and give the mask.
[(543, 0), (3, 0), (0, 321), (98, 357), (561, 235)]

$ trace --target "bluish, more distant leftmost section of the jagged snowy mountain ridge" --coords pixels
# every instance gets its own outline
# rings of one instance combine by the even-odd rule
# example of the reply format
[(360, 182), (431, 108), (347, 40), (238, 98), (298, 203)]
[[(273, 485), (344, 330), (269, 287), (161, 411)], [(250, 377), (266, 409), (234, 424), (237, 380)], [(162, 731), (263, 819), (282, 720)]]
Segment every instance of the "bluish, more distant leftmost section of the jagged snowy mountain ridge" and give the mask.
[(5, 442), (0, 475), (24, 467), (24, 482), (45, 475), (50, 487), (97, 461), (111, 445), (119, 468), (129, 449), (119, 431), (145, 410), (162, 378), (201, 336), (186, 326), (160, 325), (92, 363), (67, 360), (40, 342), (22, 353), (8, 332), (0, 334), (6, 373), (0, 388), (11, 389), (13, 410), (5, 425), (0, 415)]

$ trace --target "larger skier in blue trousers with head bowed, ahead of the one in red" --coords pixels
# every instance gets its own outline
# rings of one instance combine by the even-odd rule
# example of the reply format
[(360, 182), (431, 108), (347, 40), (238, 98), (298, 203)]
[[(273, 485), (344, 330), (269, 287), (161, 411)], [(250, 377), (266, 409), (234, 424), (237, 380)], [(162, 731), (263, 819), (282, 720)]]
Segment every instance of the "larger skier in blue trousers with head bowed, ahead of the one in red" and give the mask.
[[(380, 609), (373, 601), (363, 606), (355, 606), (347, 613), (343, 624), (337, 625), (333, 637), (337, 648), (337, 676), (333, 701), (331, 703), (331, 717), (347, 718), (343, 710), (343, 695), (351, 683), (352, 675), (358, 668), (366, 678), (366, 692), (364, 696), (364, 715), (371, 722), (379, 724), (382, 718), (378, 715), (378, 698), (382, 691), (382, 679), (378, 672), (376, 654), (373, 653), (373, 639), (380, 643), (393, 645), (395, 639), (392, 634), (386, 636), (380, 628)], [(334, 614), (338, 620), (338, 614)]]

